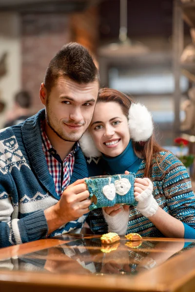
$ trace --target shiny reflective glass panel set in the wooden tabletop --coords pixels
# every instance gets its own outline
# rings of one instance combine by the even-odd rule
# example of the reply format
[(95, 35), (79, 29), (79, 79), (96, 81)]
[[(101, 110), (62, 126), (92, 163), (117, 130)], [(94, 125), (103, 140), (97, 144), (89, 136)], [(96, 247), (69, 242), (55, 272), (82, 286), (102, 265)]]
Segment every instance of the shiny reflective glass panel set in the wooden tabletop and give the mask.
[(143, 238), (131, 242), (101, 245), (100, 238), (84, 235), (64, 235), (64, 243), (37, 252), (0, 261), (0, 270), (40, 271), (57, 274), (128, 275), (153, 269), (170, 258), (195, 247), (195, 242), (155, 241)]

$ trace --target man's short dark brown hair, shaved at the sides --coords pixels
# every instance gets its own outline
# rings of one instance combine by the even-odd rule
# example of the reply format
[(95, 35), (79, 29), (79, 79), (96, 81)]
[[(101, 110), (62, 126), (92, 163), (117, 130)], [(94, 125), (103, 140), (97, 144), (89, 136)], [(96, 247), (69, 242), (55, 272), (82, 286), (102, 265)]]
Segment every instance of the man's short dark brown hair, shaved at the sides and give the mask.
[(71, 42), (64, 45), (50, 61), (44, 76), (44, 85), (49, 94), (56, 80), (66, 76), (78, 83), (99, 82), (98, 69), (92, 56), (82, 45)]

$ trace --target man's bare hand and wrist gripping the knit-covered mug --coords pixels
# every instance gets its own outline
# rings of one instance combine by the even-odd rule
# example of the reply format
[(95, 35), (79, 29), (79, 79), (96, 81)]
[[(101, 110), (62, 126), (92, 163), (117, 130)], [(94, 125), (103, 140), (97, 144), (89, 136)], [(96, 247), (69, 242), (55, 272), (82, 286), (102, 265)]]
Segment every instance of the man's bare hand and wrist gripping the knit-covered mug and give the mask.
[(62, 193), (59, 202), (44, 211), (48, 234), (69, 221), (76, 220), (89, 212), (91, 200), (85, 179), (70, 184)]

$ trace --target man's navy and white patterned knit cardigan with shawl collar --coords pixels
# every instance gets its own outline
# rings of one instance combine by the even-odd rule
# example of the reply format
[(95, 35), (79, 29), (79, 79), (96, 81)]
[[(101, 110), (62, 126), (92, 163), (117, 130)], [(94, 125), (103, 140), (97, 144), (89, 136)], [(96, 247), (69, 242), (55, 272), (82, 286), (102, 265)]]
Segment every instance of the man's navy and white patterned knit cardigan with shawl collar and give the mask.
[[(59, 201), (42, 151), (40, 110), (20, 125), (0, 132), (0, 247), (44, 238), (48, 231), (44, 209)], [(84, 155), (75, 153), (71, 182), (88, 177)], [(79, 233), (86, 215), (71, 221), (51, 236)]]

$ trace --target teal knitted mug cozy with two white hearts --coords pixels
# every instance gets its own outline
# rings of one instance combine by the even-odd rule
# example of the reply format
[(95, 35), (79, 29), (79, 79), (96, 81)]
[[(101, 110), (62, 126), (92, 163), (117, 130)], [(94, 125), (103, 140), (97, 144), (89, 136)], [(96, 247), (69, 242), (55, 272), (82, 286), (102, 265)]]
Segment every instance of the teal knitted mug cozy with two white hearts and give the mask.
[[(85, 180), (92, 203), (90, 210), (115, 204), (137, 205), (134, 197), (135, 173), (93, 177)], [(95, 200), (94, 200), (95, 196)]]

